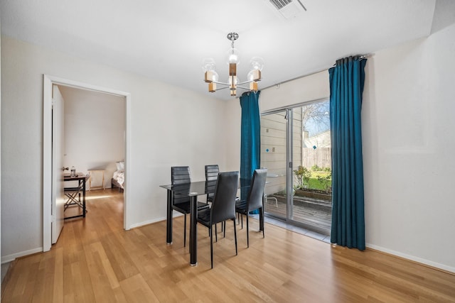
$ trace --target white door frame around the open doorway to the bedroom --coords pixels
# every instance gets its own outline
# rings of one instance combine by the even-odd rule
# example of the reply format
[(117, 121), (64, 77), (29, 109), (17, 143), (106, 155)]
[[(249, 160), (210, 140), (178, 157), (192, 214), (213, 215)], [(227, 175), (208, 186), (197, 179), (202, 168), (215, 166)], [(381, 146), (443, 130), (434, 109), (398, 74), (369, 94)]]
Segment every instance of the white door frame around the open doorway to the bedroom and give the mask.
[(69, 79), (43, 75), (43, 251), (50, 250), (52, 246), (51, 223), (52, 223), (52, 87), (53, 84), (78, 89), (91, 90), (104, 94), (113, 94), (124, 97), (125, 106), (125, 190), (124, 190), (124, 211), (123, 228), (129, 229), (127, 216), (129, 191), (129, 165), (130, 162), (130, 131), (131, 131), (131, 94), (116, 89), (109, 89), (97, 85), (76, 82)]

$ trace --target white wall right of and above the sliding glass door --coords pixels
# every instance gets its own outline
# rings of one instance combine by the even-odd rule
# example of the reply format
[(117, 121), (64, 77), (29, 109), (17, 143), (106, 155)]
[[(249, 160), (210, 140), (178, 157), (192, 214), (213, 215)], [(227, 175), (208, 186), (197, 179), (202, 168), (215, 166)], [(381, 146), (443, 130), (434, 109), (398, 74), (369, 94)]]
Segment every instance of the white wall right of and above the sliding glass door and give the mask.
[[(455, 272), (455, 25), (365, 67), (367, 246)], [(262, 111), (328, 97), (328, 72), (271, 87)]]

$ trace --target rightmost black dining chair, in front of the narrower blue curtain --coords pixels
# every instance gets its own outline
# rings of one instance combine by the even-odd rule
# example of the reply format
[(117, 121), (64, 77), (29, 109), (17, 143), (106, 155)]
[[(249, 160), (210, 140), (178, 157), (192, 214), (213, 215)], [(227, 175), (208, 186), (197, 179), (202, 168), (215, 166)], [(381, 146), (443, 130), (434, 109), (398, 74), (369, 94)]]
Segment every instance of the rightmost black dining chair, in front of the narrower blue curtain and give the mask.
[[(253, 177), (251, 181), (250, 190), (248, 191), (246, 200), (237, 200), (235, 202), (235, 212), (238, 214), (247, 216), (247, 247), (250, 247), (250, 237), (249, 237), (249, 226), (248, 226), (248, 214), (250, 211), (256, 209), (259, 210), (262, 218), (264, 218), (264, 207), (263, 207), (263, 197), (264, 197), (264, 187), (265, 180), (267, 179), (267, 168), (262, 168), (260, 170), (255, 170), (253, 172)], [(243, 224), (243, 216), (242, 216)], [(243, 227), (243, 225), (242, 225)], [(264, 228), (262, 228), (262, 237), (265, 237)]]

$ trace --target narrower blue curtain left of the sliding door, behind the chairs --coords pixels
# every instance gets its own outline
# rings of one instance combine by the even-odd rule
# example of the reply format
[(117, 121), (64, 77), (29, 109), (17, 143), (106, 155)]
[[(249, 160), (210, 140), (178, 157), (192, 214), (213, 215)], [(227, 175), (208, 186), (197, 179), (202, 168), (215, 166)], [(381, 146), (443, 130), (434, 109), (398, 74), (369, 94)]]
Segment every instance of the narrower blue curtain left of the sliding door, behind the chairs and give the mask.
[(240, 199), (247, 199), (253, 172), (261, 163), (261, 129), (259, 116), (259, 93), (245, 92), (240, 97), (242, 126), (240, 142)]

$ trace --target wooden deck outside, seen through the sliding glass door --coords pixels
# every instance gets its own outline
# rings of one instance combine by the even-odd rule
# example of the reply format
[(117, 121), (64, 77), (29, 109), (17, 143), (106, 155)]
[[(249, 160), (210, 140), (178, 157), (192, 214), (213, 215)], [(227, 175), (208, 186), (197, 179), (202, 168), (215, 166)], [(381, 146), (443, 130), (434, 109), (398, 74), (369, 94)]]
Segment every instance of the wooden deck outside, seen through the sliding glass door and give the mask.
[[(277, 201), (275, 201), (276, 198)], [(266, 214), (286, 218), (286, 199), (282, 196), (267, 196)], [(332, 204), (318, 199), (294, 197), (294, 221), (299, 221), (306, 228), (330, 235), (332, 221)]]

